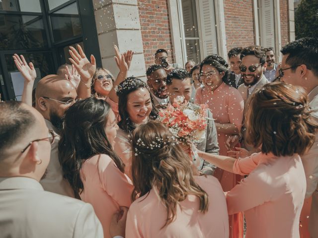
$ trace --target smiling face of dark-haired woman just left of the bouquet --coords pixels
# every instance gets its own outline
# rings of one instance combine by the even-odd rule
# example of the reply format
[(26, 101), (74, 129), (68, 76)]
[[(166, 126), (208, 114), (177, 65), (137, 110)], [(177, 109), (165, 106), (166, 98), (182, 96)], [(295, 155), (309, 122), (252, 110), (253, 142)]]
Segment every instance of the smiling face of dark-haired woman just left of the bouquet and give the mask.
[(132, 122), (145, 123), (153, 109), (150, 93), (146, 88), (139, 88), (127, 97), (127, 113)]

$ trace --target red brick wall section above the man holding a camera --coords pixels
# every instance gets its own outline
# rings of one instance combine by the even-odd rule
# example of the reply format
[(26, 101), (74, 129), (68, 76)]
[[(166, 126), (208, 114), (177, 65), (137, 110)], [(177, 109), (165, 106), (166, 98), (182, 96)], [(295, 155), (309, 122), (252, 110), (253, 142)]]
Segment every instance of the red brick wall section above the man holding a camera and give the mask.
[(155, 53), (162, 48), (173, 62), (168, 16), (168, 0), (138, 0), (146, 68), (154, 64)]

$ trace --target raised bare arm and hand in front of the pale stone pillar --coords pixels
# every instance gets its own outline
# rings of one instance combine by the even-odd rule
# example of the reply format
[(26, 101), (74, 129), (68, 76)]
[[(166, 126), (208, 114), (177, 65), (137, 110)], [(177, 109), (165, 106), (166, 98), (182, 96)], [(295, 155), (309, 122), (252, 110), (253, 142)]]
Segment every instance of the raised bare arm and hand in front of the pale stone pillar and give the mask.
[(117, 67), (119, 68), (119, 73), (117, 75), (116, 81), (110, 90), (108, 97), (111, 101), (118, 103), (118, 97), (116, 95), (115, 87), (118, 86), (127, 77), (128, 70), (130, 68), (131, 60), (133, 59), (134, 52), (127, 51), (124, 54), (120, 54), (118, 47), (114, 46), (116, 56), (115, 61)]

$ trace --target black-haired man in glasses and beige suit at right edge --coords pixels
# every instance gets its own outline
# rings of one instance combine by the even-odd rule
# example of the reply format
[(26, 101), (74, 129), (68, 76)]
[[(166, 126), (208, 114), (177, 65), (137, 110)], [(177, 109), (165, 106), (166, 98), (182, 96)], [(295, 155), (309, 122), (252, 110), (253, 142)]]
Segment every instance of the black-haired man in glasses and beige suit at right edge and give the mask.
[[(313, 119), (318, 119), (318, 39), (306, 37), (288, 43), (281, 53), (280, 80), (302, 86), (307, 91)], [(313, 199), (309, 232), (314, 238), (318, 237), (318, 135), (313, 147), (302, 156), (302, 161), (307, 180), (306, 197), (312, 196)], [(308, 219), (307, 216), (304, 219)]]

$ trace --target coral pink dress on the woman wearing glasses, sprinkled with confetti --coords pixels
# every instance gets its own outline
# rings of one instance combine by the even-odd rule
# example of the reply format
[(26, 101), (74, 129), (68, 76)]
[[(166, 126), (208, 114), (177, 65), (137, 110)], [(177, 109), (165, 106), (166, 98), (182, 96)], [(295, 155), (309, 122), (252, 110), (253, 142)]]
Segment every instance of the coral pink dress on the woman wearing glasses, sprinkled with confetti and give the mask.
[[(196, 104), (207, 104), (213, 114), (215, 122), (233, 123), (240, 130), (244, 115), (244, 101), (239, 91), (224, 82), (214, 92), (207, 87), (198, 88), (195, 94)], [(217, 127), (218, 130), (218, 127)], [(225, 142), (230, 134), (218, 131), (220, 155), (227, 155)], [(241, 176), (217, 168), (214, 176), (219, 179), (224, 191), (230, 191)], [(243, 237), (243, 216), (241, 213), (229, 216), (230, 238)]]

